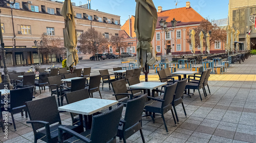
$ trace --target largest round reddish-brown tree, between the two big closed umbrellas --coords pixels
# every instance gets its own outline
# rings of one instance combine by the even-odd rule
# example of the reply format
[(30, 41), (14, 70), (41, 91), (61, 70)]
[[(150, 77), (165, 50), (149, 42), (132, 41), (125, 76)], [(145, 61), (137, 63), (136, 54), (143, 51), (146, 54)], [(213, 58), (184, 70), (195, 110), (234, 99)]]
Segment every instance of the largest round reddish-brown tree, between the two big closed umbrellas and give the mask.
[[(80, 49), (84, 53), (88, 52), (95, 55), (102, 50), (106, 43), (108, 43), (108, 40), (94, 28), (89, 28), (85, 33), (80, 35), (80, 40), (78, 42), (80, 43)], [(95, 60), (98, 60), (98, 58), (95, 58)]]

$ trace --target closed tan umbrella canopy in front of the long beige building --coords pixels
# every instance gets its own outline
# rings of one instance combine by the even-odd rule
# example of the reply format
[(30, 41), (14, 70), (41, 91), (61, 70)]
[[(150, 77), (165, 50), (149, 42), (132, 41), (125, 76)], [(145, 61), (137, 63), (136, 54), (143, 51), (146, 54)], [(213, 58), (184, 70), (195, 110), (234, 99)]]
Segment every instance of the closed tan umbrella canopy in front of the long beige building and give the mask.
[(67, 66), (73, 67), (78, 63), (77, 35), (75, 26), (75, 13), (70, 0), (65, 0), (60, 13), (65, 18), (65, 29), (63, 30), (64, 46), (67, 48)]

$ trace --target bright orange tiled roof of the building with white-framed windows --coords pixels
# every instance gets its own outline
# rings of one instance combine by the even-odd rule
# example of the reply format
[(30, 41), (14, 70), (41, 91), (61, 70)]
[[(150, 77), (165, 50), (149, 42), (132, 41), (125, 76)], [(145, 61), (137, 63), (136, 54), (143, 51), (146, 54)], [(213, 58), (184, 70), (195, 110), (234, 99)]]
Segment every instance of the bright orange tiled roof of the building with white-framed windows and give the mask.
[(170, 21), (172, 21), (173, 18), (175, 18), (177, 21), (180, 21), (179, 23), (177, 23), (177, 26), (186, 24), (198, 24), (204, 19), (198, 12), (196, 12), (191, 7), (183, 7), (159, 12), (156, 28), (160, 28), (159, 21), (161, 20), (161, 18), (168, 22), (167, 26), (171, 26)]

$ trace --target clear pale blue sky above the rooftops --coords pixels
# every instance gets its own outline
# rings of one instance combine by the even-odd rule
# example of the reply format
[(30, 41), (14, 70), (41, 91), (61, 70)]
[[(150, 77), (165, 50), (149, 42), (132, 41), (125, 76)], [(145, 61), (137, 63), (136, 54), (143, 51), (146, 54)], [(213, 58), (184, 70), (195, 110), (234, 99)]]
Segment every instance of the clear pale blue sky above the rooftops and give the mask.
[[(71, 0), (79, 6), (87, 4), (86, 0)], [(228, 0), (178, 0), (177, 8), (185, 7), (186, 2), (190, 2), (190, 6), (194, 8), (204, 18), (222, 19), (228, 15)], [(175, 0), (153, 0), (155, 7), (163, 7), (163, 10), (175, 9)], [(129, 19), (129, 15), (135, 15), (136, 2), (135, 0), (91, 0), (93, 10), (98, 9), (101, 12), (106, 12), (114, 15), (119, 15), (121, 25)]]

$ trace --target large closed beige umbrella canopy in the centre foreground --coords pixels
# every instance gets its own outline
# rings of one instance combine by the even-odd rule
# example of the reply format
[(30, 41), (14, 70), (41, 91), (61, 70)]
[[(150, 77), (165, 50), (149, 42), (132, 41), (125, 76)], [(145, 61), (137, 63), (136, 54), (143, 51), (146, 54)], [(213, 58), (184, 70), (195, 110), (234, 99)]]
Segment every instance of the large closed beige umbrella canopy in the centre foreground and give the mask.
[(136, 0), (134, 28), (138, 38), (137, 64), (144, 67), (156, 62), (156, 53), (151, 44), (157, 24), (157, 10), (152, 0)]

